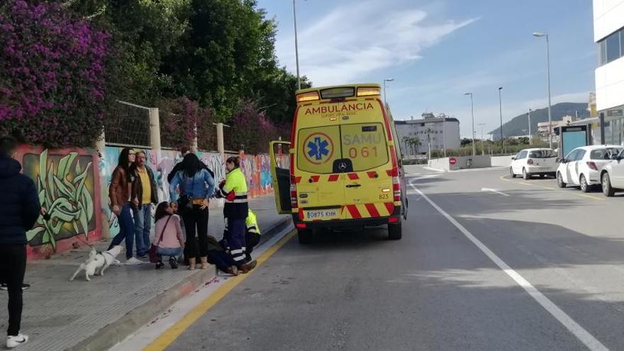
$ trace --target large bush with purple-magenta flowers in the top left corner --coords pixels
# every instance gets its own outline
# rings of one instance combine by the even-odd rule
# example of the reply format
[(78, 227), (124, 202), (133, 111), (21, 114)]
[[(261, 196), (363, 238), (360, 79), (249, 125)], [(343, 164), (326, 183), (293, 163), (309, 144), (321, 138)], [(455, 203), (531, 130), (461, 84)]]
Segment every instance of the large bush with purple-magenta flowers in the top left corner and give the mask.
[(0, 133), (52, 147), (101, 133), (110, 35), (54, 3), (0, 4)]

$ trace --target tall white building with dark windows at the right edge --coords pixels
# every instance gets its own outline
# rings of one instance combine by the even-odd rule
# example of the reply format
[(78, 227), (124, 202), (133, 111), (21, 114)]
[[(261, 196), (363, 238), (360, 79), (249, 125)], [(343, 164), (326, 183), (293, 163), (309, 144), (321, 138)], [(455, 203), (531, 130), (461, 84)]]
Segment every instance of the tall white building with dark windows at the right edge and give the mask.
[(599, 127), (594, 143), (624, 145), (624, 0), (594, 0), (594, 41)]

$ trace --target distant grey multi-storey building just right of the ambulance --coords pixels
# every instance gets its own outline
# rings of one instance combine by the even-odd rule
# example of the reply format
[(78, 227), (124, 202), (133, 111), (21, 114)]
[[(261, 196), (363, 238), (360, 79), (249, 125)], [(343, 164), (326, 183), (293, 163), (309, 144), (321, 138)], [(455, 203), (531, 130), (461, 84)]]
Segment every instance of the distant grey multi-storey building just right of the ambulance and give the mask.
[(435, 149), (459, 147), (459, 120), (440, 114), (423, 113), (423, 118), (394, 121), (403, 157), (426, 155), (429, 145)]

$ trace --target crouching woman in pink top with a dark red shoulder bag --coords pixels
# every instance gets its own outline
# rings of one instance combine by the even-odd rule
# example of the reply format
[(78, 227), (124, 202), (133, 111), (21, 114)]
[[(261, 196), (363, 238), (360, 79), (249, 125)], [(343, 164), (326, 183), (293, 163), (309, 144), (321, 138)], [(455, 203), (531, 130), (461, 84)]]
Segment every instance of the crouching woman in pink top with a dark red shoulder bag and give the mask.
[(162, 268), (162, 256), (169, 256), (169, 265), (172, 269), (178, 267), (177, 256), (182, 255), (184, 250), (184, 233), (180, 218), (174, 214), (174, 208), (167, 202), (161, 202), (156, 207), (154, 216), (156, 229), (154, 232), (154, 245), (158, 247), (156, 269)]

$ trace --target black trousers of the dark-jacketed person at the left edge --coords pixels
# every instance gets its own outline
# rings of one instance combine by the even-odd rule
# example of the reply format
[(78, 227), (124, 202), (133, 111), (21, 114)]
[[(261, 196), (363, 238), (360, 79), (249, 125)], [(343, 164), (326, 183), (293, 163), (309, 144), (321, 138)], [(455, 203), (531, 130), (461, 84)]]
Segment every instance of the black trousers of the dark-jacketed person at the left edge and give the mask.
[(26, 273), (26, 245), (0, 245), (0, 279), (9, 289), (9, 329), (16, 336), (22, 319), (22, 284)]

